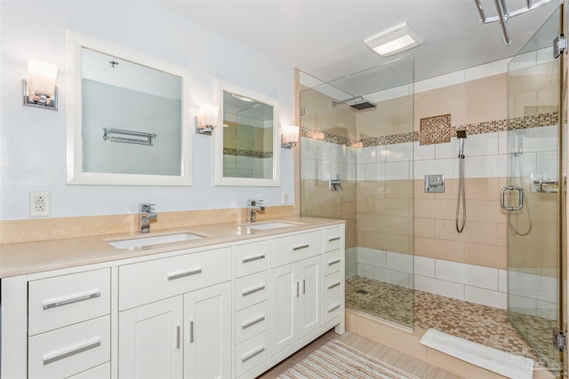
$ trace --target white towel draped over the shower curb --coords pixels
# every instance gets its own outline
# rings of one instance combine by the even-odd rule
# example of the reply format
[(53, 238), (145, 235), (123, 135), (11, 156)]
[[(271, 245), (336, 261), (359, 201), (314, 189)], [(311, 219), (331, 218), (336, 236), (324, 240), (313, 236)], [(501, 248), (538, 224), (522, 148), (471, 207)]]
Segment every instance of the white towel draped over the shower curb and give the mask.
[(421, 343), (432, 349), (484, 367), (496, 374), (514, 379), (533, 378), (533, 360), (506, 351), (494, 349), (481, 343), (447, 335), (430, 328), (421, 338)]

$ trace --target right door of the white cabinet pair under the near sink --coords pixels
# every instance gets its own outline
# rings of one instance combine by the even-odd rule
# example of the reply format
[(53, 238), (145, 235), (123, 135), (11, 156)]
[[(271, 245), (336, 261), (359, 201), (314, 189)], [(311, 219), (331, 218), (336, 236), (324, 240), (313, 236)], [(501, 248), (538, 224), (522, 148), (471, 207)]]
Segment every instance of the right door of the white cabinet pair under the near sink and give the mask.
[(231, 376), (231, 282), (184, 295), (184, 378)]

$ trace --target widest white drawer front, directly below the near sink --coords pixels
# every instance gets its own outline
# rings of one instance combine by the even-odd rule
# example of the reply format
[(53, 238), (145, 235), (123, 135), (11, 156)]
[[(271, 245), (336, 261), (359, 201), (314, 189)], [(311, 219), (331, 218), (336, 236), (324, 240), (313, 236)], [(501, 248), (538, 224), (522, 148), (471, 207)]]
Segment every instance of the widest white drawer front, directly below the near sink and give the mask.
[(231, 248), (155, 259), (118, 269), (120, 311), (231, 280)]

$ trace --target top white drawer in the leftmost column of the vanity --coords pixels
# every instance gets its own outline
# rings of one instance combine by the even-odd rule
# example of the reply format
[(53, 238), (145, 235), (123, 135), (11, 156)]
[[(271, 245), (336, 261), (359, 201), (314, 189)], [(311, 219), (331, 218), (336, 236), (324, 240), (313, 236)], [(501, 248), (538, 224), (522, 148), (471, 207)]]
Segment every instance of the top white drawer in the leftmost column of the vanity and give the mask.
[(109, 312), (109, 269), (33, 280), (28, 284), (29, 336)]

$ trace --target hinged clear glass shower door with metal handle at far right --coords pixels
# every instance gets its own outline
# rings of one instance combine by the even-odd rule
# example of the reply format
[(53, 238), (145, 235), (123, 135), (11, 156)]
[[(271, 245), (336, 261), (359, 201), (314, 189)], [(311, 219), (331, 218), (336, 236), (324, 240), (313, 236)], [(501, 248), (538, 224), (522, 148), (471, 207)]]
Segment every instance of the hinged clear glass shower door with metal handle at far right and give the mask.
[(563, 367), (553, 330), (563, 328), (562, 231), (565, 229), (562, 158), (566, 138), (562, 58), (555, 59), (558, 9), (508, 67), (508, 186), (502, 207), (508, 214), (509, 320), (554, 374)]

